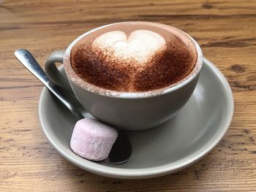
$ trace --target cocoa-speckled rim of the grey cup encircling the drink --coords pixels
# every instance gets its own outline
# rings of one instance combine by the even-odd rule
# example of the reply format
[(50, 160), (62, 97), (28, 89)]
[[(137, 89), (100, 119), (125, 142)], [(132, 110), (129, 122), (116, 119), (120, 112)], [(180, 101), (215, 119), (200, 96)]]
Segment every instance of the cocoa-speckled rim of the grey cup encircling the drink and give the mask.
[[(135, 23), (135, 22), (143, 22), (143, 23), (154, 23), (154, 22), (145, 22), (145, 21), (125, 21), (125, 22), (118, 22), (118, 23)], [(113, 26), (118, 23), (111, 23), (104, 26), (99, 26), (97, 28), (91, 29), (90, 31), (87, 31), (86, 33), (80, 35), (77, 37), (68, 47), (67, 50), (64, 53), (64, 70), (67, 74), (69, 82), (73, 82), (75, 85), (78, 85), (78, 87), (83, 88), (86, 91), (89, 91), (91, 93), (97, 93), (101, 96), (108, 96), (108, 97), (114, 97), (114, 98), (122, 98), (122, 99), (139, 99), (139, 98), (148, 98), (152, 96), (159, 96), (164, 95), (166, 93), (170, 93), (173, 91), (176, 91), (179, 88), (184, 87), (189, 82), (195, 79), (197, 77), (197, 74), (200, 73), (200, 70), (203, 66), (203, 53), (200, 48), (200, 46), (197, 44), (195, 39), (189, 36), (189, 34), (185, 33), (184, 31), (181, 31), (178, 28), (175, 28), (173, 26), (170, 26), (172, 28), (175, 28), (178, 31), (181, 31), (181, 33), (185, 34), (189, 39), (192, 40), (192, 42), (195, 44), (195, 48), (197, 51), (197, 61), (195, 63), (194, 68), (192, 69), (192, 72), (190, 72), (187, 77), (184, 77), (182, 80), (179, 80), (178, 82), (175, 82), (171, 85), (168, 85), (164, 88), (159, 88), (153, 91), (144, 91), (144, 92), (123, 92), (123, 91), (112, 91), (105, 88), (100, 88), (96, 85), (93, 85), (89, 82), (86, 82), (82, 80), (78, 74), (75, 73), (75, 71), (72, 69), (71, 62), (70, 62), (70, 52), (72, 50), (72, 47), (83, 37), (86, 37), (86, 35), (93, 33), (94, 31), (97, 31), (101, 28), (106, 28), (108, 26)], [(158, 23), (162, 24), (162, 23)], [(165, 25), (165, 24), (162, 24)], [(73, 78), (69, 77), (72, 76)], [(74, 78), (75, 77), (75, 78)]]

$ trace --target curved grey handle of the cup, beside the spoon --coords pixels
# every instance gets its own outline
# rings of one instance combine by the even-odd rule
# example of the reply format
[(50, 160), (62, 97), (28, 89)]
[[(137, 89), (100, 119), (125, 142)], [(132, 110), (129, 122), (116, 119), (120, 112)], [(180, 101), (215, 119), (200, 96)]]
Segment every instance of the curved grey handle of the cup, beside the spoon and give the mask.
[(45, 61), (45, 73), (56, 85), (59, 85), (64, 91), (73, 93), (67, 79), (67, 74), (62, 74), (56, 66), (56, 63), (63, 64), (65, 50), (57, 50), (51, 53)]

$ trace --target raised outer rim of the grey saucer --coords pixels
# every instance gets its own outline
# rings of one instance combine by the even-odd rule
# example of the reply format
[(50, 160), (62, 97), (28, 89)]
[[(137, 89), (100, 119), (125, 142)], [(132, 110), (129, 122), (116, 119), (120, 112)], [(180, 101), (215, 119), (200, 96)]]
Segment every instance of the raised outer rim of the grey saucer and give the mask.
[(116, 177), (116, 178), (122, 178), (122, 179), (143, 179), (143, 178), (151, 178), (151, 177), (159, 177), (165, 174), (171, 174), (173, 172), (177, 172), (178, 170), (184, 169), (187, 166), (190, 166), (194, 164), (195, 162), (199, 161), (200, 158), (203, 158), (207, 153), (209, 153), (224, 137), (225, 133), (227, 132), (227, 129), (230, 126), (230, 123), (233, 118), (233, 112), (234, 112), (234, 101), (233, 101), (233, 93), (231, 91), (230, 85), (228, 84), (227, 80), (225, 79), (222, 72), (217, 69), (214, 64), (211, 63), (211, 61), (208, 61), (208, 59), (203, 58), (203, 63), (207, 64), (208, 67), (211, 69), (214, 74), (217, 75), (217, 78), (219, 82), (224, 86), (225, 90), (225, 96), (227, 96), (227, 114), (225, 115), (225, 120), (220, 125), (217, 130), (217, 132), (214, 134), (211, 139), (208, 140), (206, 145), (201, 147), (199, 150), (195, 151), (195, 153), (192, 153), (184, 158), (178, 159), (177, 161), (173, 161), (170, 164), (164, 164), (161, 166), (153, 166), (148, 168), (138, 168), (138, 169), (124, 169), (124, 168), (118, 168), (113, 166), (105, 166), (105, 164), (98, 164), (93, 161), (89, 161), (84, 159), (86, 163), (81, 163), (78, 159), (72, 158), (69, 156), (68, 153), (65, 153), (64, 150), (59, 147), (56, 142), (53, 141), (50, 134), (48, 134), (48, 131), (46, 128), (45, 123), (43, 122), (42, 118), (42, 99), (47, 91), (47, 88), (43, 88), (42, 93), (39, 98), (39, 123), (42, 127), (42, 131), (47, 137), (48, 141), (51, 145), (69, 162), (72, 164), (75, 164), (76, 166), (79, 166), (82, 169), (85, 169), (86, 171), (93, 172), (94, 174), (99, 174), (106, 177)]

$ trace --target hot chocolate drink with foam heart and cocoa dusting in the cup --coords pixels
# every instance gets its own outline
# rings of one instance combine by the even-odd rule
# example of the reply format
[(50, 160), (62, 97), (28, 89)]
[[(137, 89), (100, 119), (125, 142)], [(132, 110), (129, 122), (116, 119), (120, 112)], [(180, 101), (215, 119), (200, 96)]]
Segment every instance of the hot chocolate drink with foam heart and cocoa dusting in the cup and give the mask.
[(187, 77), (197, 61), (195, 44), (171, 26), (117, 23), (86, 35), (70, 53), (72, 69), (92, 85), (112, 91), (165, 88)]

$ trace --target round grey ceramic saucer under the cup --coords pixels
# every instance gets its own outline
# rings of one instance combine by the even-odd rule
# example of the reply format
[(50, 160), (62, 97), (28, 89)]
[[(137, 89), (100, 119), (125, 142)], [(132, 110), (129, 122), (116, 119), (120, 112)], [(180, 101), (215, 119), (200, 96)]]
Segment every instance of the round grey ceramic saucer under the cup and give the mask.
[(206, 155), (222, 139), (233, 118), (233, 95), (225, 77), (204, 59), (197, 87), (175, 118), (147, 131), (127, 132), (132, 156), (121, 165), (80, 158), (69, 147), (75, 118), (44, 88), (39, 120), (64, 158), (89, 172), (117, 178), (149, 178), (177, 172)]

